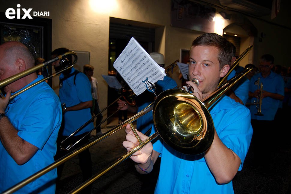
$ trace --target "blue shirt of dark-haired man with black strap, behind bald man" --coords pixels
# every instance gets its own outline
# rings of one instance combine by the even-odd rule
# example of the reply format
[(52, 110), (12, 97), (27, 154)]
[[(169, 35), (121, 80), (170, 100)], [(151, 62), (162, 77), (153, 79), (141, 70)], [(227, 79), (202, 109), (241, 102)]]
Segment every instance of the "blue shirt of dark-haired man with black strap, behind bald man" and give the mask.
[[(76, 71), (74, 68), (71, 69), (71, 73)], [(59, 96), (61, 103), (65, 103), (66, 107), (74, 106), (82, 102), (92, 100), (91, 94), (91, 83), (88, 77), (79, 72), (76, 75), (74, 84), (74, 75), (63, 80), (62, 87), (59, 90)], [(60, 75), (60, 79), (64, 78), (64, 74)], [(90, 108), (81, 109), (77, 111), (67, 111), (64, 114), (64, 131), (63, 135), (69, 136), (80, 126), (85, 124), (89, 119), (92, 118)], [(91, 131), (94, 128), (93, 123), (89, 123), (76, 135), (83, 134)]]

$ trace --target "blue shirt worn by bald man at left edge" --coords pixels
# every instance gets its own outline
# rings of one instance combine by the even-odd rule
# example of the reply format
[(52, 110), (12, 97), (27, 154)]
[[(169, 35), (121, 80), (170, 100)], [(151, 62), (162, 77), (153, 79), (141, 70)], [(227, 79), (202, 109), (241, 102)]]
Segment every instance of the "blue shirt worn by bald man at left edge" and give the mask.
[[(43, 78), (42, 75), (38, 76), (32, 83)], [(18, 165), (0, 143), (0, 192), (54, 162), (62, 119), (60, 100), (45, 82), (16, 96), (5, 111), (12, 125), (18, 130), (17, 135), (38, 147), (38, 151), (25, 164)], [(56, 178), (57, 172), (53, 169), (15, 193), (27, 194), (38, 189), (37, 193), (41, 194), (55, 193)]]

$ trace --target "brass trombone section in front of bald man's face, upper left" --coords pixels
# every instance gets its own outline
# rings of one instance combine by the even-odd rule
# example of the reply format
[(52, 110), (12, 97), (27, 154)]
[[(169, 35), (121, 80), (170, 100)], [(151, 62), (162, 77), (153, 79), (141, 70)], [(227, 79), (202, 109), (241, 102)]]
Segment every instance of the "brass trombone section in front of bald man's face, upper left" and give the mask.
[[(74, 55), (74, 57), (75, 57), (75, 61), (74, 61), (72, 64), (69, 64), (69, 63), (68, 63), (68, 60), (65, 58), (65, 56), (70, 55), (70, 54)], [(15, 94), (13, 94), (13, 95), (10, 97), (10, 100), (12, 100), (13, 98), (15, 98), (15, 97), (18, 96), (19, 94), (23, 93), (24, 91), (26, 91), (26, 90), (28, 90), (28, 89), (34, 87), (35, 85), (38, 85), (38, 84), (40, 84), (40, 83), (42, 83), (42, 82), (44, 82), (44, 81), (46, 81), (46, 80), (48, 80), (48, 79), (50, 79), (50, 78), (52, 78), (52, 77), (55, 77), (55, 76), (58, 75), (58, 74), (61, 74), (63, 71), (66, 71), (67, 69), (72, 68), (72, 67), (76, 64), (76, 62), (77, 62), (77, 55), (76, 55), (76, 53), (73, 52), (73, 51), (68, 51), (68, 52), (66, 52), (66, 53), (64, 53), (64, 54), (61, 54), (61, 55), (59, 55), (59, 56), (57, 56), (57, 57), (55, 57), (55, 58), (53, 58), (53, 59), (51, 59), (51, 60), (49, 60), (49, 61), (47, 61), (47, 62), (41, 63), (41, 64), (39, 64), (39, 65), (36, 65), (36, 66), (34, 66), (34, 67), (32, 67), (32, 68), (27, 69), (26, 71), (22, 71), (22, 72), (20, 72), (20, 73), (18, 73), (18, 74), (15, 74), (15, 75), (13, 75), (13, 76), (11, 76), (11, 77), (8, 77), (8, 78), (2, 80), (2, 81), (0, 82), (0, 88), (3, 88), (4, 86), (9, 85), (10, 83), (15, 82), (16, 80), (19, 80), (19, 79), (21, 79), (22, 77), (25, 77), (25, 76), (27, 76), (27, 75), (29, 75), (29, 74), (32, 74), (32, 73), (34, 73), (35, 71), (37, 71), (37, 70), (39, 70), (39, 69), (41, 69), (41, 68), (43, 68), (43, 67), (46, 67), (46, 70), (48, 70), (48, 69), (47, 69), (47, 68), (48, 68), (47, 66), (48, 66), (50, 63), (55, 62), (55, 61), (60, 60), (60, 59), (61, 59), (61, 61), (60, 61), (60, 65), (61, 65), (61, 67), (62, 67), (63, 69), (61, 69), (61, 70), (58, 71), (58, 72), (55, 72), (55, 73), (52, 74), (52, 75), (49, 73), (49, 71), (47, 71), (47, 73), (48, 73), (48, 77), (45, 77), (44, 79), (39, 80), (38, 82), (36, 82), (36, 83), (34, 83), (34, 84), (32, 84), (32, 85), (30, 85), (30, 86), (28, 86), (28, 87), (22, 89), (21, 91), (15, 93)], [(1, 94), (1, 96), (4, 97), (3, 94)]]

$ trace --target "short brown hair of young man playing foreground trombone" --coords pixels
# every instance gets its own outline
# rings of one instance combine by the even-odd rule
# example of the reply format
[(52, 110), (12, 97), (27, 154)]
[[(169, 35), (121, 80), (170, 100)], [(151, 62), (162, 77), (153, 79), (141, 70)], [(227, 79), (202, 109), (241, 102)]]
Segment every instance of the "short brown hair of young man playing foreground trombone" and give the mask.
[(224, 65), (230, 65), (232, 58), (232, 45), (228, 40), (216, 33), (205, 33), (198, 36), (192, 43), (195, 46), (214, 46), (219, 50), (218, 61), (219, 68), (222, 69)]

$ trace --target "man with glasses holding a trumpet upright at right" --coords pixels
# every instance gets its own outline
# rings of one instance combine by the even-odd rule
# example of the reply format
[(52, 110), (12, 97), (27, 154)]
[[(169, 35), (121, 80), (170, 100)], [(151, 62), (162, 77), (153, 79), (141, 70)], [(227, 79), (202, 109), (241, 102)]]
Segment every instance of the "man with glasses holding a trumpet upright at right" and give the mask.
[[(271, 71), (274, 66), (274, 57), (270, 54), (264, 54), (260, 58), (260, 73), (255, 74), (250, 79), (249, 98), (251, 102), (258, 102), (260, 99), (260, 84), (263, 84), (261, 112), (263, 115), (256, 115), (259, 105), (250, 106), (251, 123), (253, 126), (252, 144), (255, 148), (255, 156), (258, 164), (264, 160), (270, 151), (271, 140), (274, 130), (274, 117), (279, 107), (280, 100), (284, 98), (284, 81), (281, 75)], [(267, 142), (269, 141), (269, 142)], [(263, 164), (268, 168), (269, 160)]]

